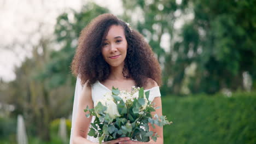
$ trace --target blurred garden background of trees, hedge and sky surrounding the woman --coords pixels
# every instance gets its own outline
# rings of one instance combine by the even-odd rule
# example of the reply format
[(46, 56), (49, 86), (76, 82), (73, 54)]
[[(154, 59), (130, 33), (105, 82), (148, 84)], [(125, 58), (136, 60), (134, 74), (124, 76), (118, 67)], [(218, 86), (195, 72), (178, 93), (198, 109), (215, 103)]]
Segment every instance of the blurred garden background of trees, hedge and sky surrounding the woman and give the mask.
[(0, 0), (0, 143), (68, 143), (80, 31), (112, 13), (162, 68), (165, 143), (256, 143), (256, 1)]

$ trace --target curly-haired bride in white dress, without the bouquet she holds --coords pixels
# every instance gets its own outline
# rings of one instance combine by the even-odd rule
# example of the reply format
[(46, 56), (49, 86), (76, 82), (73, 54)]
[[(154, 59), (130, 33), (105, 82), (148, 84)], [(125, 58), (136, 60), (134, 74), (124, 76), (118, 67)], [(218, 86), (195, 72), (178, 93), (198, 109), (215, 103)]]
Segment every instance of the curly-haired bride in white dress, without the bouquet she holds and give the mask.
[[(141, 34), (112, 14), (97, 16), (83, 29), (71, 68), (83, 85), (78, 108), (73, 109), (71, 143), (97, 142), (88, 136), (93, 118), (85, 117), (84, 109), (87, 105), (92, 109), (112, 86), (129, 92), (132, 86), (144, 87), (150, 90), (151, 101), (161, 107), (161, 69), (151, 47)], [(161, 116), (162, 110), (157, 109), (152, 115), (155, 113)], [(104, 143), (163, 143), (162, 128), (150, 130), (158, 133), (156, 142), (121, 137)]]

